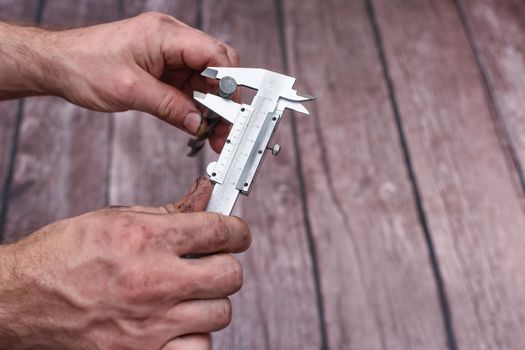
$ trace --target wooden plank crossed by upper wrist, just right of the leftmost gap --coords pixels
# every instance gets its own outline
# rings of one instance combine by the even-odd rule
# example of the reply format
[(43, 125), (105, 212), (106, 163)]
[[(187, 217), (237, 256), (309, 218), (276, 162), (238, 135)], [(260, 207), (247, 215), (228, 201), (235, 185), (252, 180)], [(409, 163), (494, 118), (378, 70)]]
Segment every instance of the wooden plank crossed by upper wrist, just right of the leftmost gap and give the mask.
[[(45, 2), (43, 24), (116, 18), (115, 0)], [(6, 239), (106, 204), (108, 116), (53, 97), (27, 99), (10, 189)]]

